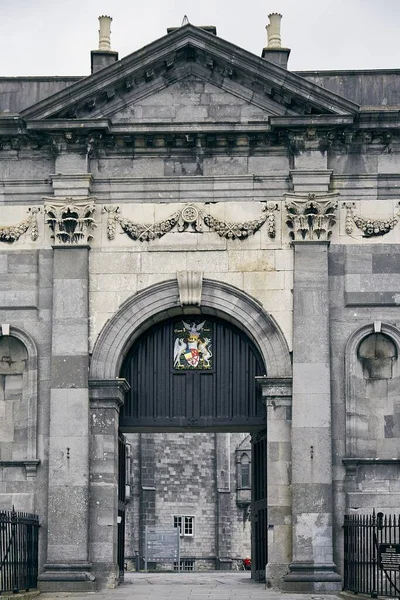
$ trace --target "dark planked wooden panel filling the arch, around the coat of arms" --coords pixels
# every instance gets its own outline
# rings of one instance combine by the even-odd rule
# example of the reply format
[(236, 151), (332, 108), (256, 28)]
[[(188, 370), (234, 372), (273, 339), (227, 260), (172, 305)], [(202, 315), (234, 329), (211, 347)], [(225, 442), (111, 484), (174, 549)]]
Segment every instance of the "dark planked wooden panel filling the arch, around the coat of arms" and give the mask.
[[(200, 368), (177, 364), (177, 328), (182, 328), (182, 338), (189, 345), (197, 334), (185, 331), (182, 323), (195, 330), (203, 322), (208, 332), (197, 337), (211, 340), (208, 364)], [(230, 323), (185, 315), (157, 324), (133, 345), (123, 363), (121, 377), (131, 389), (121, 410), (120, 427), (126, 433), (259, 430), (265, 427), (266, 409), (255, 383), (257, 375), (265, 375), (258, 350)]]

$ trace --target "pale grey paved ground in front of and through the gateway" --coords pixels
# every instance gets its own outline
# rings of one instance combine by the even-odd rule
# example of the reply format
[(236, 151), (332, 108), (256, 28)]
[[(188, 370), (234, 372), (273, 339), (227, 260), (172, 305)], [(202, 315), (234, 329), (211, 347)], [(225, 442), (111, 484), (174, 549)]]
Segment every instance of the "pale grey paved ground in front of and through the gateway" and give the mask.
[[(282, 594), (253, 583), (244, 572), (127, 573), (115, 590), (41, 594), (40, 600), (338, 600), (335, 595)], [(38, 599), (39, 600), (39, 599)]]

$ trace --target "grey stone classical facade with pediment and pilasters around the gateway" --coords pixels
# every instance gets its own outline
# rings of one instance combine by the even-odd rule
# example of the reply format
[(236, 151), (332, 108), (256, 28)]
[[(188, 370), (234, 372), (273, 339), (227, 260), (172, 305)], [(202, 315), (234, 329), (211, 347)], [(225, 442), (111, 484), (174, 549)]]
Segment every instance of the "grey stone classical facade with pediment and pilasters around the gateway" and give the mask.
[[(43, 590), (118, 580), (119, 422), (266, 439), (276, 587), (339, 589), (344, 514), (399, 510), (400, 73), (292, 73), (278, 21), (261, 58), (186, 24), (121, 60), (102, 35), (86, 78), (0, 79), (0, 506), (40, 515)], [(135, 431), (125, 357), (191, 317), (257, 369)], [(156, 358), (150, 387), (179, 375)]]

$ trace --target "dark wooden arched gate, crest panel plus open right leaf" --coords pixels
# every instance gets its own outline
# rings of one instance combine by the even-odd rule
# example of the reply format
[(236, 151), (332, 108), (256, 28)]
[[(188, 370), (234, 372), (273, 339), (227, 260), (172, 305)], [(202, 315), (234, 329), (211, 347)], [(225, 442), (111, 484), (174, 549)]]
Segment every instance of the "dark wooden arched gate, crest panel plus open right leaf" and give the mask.
[[(266, 407), (256, 385), (256, 377), (265, 374), (258, 349), (241, 330), (220, 318), (202, 314), (185, 314), (150, 327), (133, 344), (121, 369), (121, 378), (130, 385), (120, 413), (123, 433), (251, 432), (252, 566), (257, 579), (263, 578), (267, 563)], [(123, 468), (122, 462), (120, 465)], [(150, 496), (143, 502), (146, 508), (140, 510), (141, 555), (144, 523), (151, 523), (156, 517), (155, 486), (146, 496)], [(229, 509), (224, 496), (217, 495), (216, 506), (219, 518), (222, 520), (223, 513), (227, 518)], [(219, 531), (224, 535), (223, 529), (217, 522), (219, 568), (226, 560), (224, 543), (218, 535)]]

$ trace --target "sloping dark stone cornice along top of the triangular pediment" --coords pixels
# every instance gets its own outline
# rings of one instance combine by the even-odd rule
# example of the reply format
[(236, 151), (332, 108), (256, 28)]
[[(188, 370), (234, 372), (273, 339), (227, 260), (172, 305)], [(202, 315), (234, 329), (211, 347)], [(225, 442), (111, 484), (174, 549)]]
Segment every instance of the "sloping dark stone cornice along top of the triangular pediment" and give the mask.
[(107, 116), (124, 103), (124, 94), (137, 93), (140, 98), (155, 93), (188, 71), (272, 115), (341, 115), (359, 110), (353, 102), (188, 24), (27, 108), (21, 116)]

